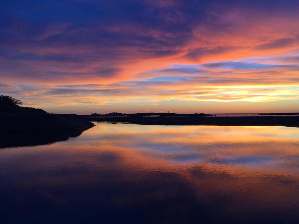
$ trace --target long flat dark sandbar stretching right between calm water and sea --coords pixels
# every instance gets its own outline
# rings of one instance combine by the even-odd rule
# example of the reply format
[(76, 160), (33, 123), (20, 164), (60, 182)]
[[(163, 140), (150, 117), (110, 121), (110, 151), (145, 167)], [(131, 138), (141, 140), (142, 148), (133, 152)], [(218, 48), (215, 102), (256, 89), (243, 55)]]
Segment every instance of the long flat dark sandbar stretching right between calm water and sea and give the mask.
[(123, 117), (85, 118), (88, 121), (130, 122), (153, 125), (223, 125), (223, 126), (287, 126), (299, 127), (299, 117)]

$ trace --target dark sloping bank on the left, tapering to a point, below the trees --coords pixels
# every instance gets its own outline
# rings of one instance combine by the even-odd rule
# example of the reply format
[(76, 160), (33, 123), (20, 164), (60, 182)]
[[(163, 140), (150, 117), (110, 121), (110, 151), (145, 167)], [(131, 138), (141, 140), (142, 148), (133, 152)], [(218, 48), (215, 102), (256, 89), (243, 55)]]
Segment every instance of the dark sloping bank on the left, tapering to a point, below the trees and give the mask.
[(0, 104), (0, 133), (80, 129), (94, 126), (75, 114), (49, 114), (42, 109)]

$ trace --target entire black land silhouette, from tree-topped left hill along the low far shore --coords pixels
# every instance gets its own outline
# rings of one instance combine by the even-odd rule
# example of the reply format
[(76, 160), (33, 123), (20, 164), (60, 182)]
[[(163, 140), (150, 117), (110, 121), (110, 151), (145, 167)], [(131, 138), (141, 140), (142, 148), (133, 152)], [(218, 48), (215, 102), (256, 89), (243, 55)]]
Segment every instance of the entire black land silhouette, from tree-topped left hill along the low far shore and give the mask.
[[(21, 105), (21, 106), (19, 106)], [(42, 109), (22, 107), (23, 103), (9, 96), (0, 96), (0, 133), (30, 133), (66, 131), (93, 127), (90, 121), (129, 122), (152, 125), (232, 125), (232, 126), (287, 126), (299, 127), (299, 116), (216, 117), (195, 113), (133, 113), (123, 114), (49, 114)], [(259, 115), (297, 115), (299, 113), (262, 113)]]

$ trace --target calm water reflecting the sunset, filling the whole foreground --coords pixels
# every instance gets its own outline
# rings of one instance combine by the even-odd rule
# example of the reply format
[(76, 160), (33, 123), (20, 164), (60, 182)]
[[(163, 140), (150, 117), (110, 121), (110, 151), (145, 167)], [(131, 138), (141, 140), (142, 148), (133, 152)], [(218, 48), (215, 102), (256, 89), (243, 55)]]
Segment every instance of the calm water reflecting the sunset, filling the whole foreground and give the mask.
[(299, 128), (97, 123), (14, 138), (35, 146), (1, 138), (0, 223), (299, 221)]

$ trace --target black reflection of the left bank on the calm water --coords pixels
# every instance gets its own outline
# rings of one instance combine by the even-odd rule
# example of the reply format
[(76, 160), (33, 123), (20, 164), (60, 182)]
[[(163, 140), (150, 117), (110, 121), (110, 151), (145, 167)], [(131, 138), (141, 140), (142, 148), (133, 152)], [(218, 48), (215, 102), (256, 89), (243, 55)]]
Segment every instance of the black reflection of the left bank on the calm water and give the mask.
[[(90, 128), (90, 127), (89, 127)], [(52, 144), (78, 137), (89, 128), (71, 129), (66, 131), (48, 131), (39, 133), (6, 134), (0, 136), (0, 148), (25, 147)]]

